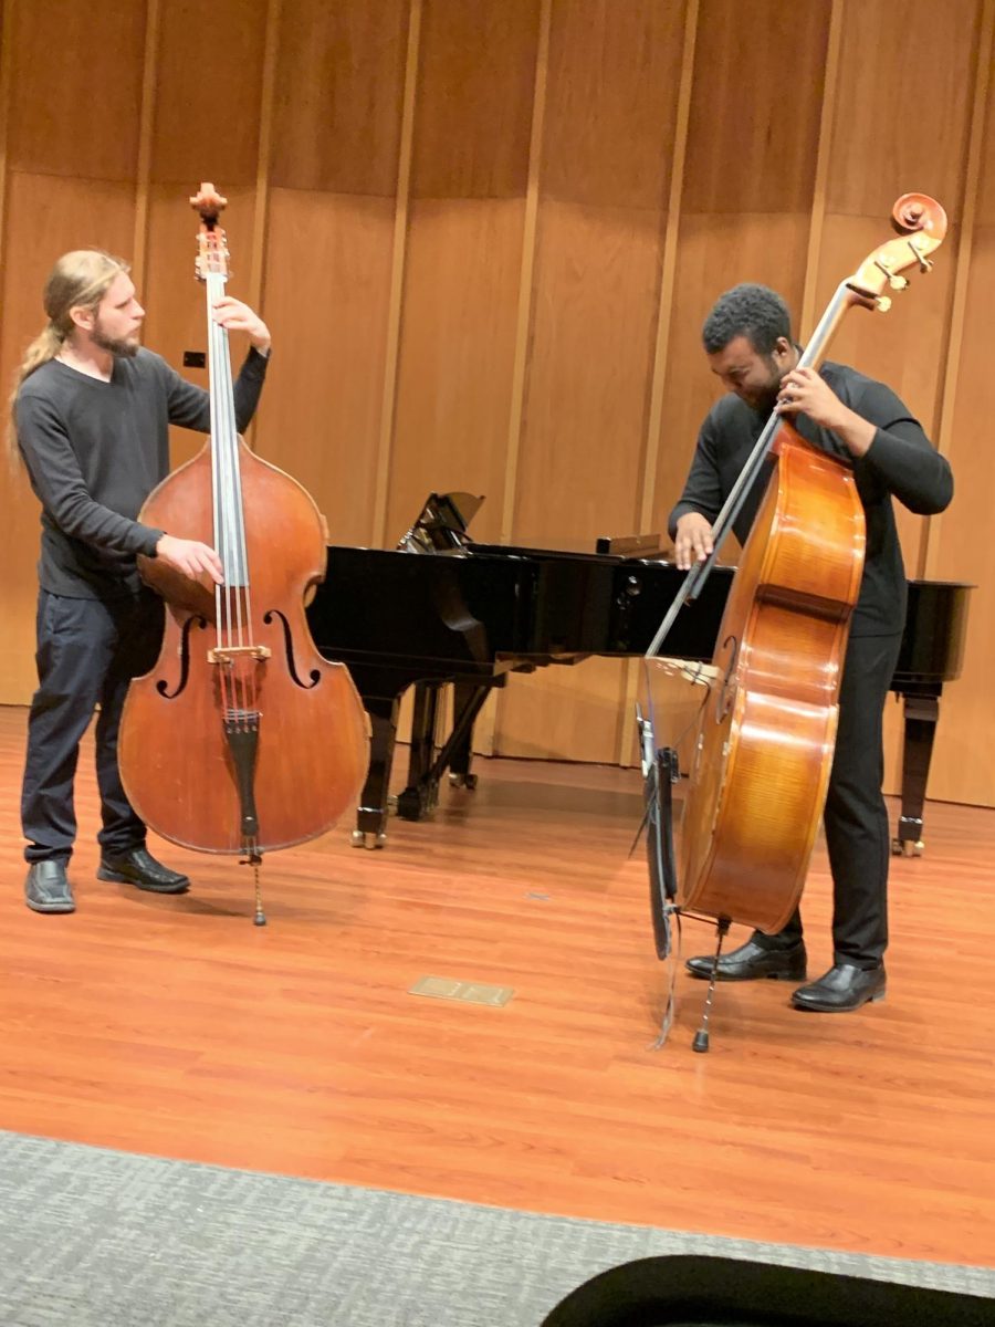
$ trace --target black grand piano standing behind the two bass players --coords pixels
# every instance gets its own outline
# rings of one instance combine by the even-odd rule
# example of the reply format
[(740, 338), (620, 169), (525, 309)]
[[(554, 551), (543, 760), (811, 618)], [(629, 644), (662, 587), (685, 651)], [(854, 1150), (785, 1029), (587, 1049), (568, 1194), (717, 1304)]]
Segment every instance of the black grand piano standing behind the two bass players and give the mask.
[[(401, 698), (415, 687), (407, 784), (397, 799), (421, 820), (439, 782), (474, 787), (474, 719), (511, 671), (576, 664), (592, 654), (639, 656), (683, 580), (658, 539), (600, 539), (592, 552), (478, 544), (467, 524), (482, 499), (431, 494), (398, 549), (328, 549), (325, 581), (308, 606), (314, 642), (346, 664), (371, 726), (370, 770), (353, 843), (383, 847)], [(732, 568), (716, 567), (686, 605), (666, 653), (710, 660)], [(909, 581), (909, 609), (892, 690), (905, 707), (902, 809), (893, 851), (922, 852), (922, 811), (945, 682), (961, 673), (970, 585)], [(454, 683), (454, 725), (436, 747), (442, 689)]]

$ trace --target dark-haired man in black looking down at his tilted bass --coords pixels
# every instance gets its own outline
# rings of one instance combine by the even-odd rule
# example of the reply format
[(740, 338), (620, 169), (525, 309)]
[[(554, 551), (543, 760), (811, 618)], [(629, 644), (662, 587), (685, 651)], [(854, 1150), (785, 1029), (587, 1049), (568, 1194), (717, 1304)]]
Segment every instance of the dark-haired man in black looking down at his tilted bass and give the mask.
[[(953, 496), (950, 466), (907, 407), (884, 384), (840, 364), (799, 368), (784, 300), (764, 285), (736, 285), (702, 329), (712, 373), (727, 394), (702, 425), (681, 500), (669, 519), (678, 565), (712, 551), (712, 523), (772, 411), (792, 418), (807, 442), (853, 464), (866, 520), (866, 555), (840, 686), (840, 714), (824, 825), (833, 877), (833, 966), (792, 995), (801, 1010), (854, 1010), (885, 994), (890, 836), (881, 783), (882, 715), (905, 625), (906, 580), (892, 498), (933, 515)], [(740, 543), (763, 498), (763, 480), (735, 523)], [(711, 958), (691, 958), (708, 978)], [(720, 981), (807, 978), (801, 917), (776, 936), (755, 932), (723, 955)]]

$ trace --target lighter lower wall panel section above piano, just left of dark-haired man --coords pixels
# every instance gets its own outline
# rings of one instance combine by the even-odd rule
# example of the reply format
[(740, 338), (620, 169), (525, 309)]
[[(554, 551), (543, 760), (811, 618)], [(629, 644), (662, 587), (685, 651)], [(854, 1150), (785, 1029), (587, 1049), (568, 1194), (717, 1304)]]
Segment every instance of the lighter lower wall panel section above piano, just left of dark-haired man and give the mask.
[(516, 543), (631, 532), (658, 259), (658, 214), (543, 204)]

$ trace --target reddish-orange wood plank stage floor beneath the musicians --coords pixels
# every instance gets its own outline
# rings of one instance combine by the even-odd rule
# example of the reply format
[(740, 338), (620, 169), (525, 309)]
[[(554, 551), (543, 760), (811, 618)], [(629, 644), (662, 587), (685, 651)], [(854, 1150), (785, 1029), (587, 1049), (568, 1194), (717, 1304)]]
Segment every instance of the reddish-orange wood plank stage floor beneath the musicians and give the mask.
[[(154, 843), (183, 898), (94, 878), (23, 902), (24, 710), (0, 710), (0, 1127), (500, 1206), (995, 1266), (995, 812), (931, 804), (894, 861), (888, 999), (804, 1015), (779, 982), (703, 987), (655, 1050), (631, 771), (480, 762), (385, 852), (345, 829), (247, 868)], [(829, 963), (821, 848), (805, 916)], [(734, 942), (740, 938), (734, 934)], [(707, 949), (686, 926), (685, 951)], [(409, 994), (512, 986), (503, 1009)]]

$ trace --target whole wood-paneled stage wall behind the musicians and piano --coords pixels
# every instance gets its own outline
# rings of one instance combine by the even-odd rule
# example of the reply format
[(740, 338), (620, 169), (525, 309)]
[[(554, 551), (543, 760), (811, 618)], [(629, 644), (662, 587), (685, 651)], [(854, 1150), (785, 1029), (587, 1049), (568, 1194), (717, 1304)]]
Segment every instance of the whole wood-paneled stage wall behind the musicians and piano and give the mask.
[[(463, 488), (483, 540), (592, 547), (662, 528), (715, 296), (767, 281), (804, 336), (894, 199), (933, 194), (934, 273), (833, 354), (954, 464), (950, 514), (902, 518), (911, 575), (978, 583), (930, 791), (992, 805), (994, 23), (995, 0), (4, 0), (0, 380), (86, 244), (133, 260), (151, 346), (203, 348), (186, 199), (211, 179), (232, 292), (275, 333), (255, 445), (333, 541), (390, 547)], [(0, 701), (23, 702), (37, 510), (0, 483)], [(631, 662), (512, 678), (478, 735), (628, 763), (635, 691)]]

